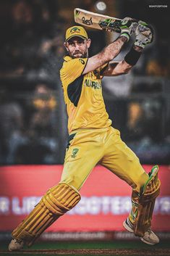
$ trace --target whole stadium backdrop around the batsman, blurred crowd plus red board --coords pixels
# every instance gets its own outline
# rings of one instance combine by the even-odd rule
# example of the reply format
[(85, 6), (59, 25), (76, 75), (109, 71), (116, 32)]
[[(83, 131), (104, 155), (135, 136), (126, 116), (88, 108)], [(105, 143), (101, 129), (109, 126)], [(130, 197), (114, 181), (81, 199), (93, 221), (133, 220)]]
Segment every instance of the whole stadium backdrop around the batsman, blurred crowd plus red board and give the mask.
[[(135, 17), (153, 25), (154, 43), (146, 47), (130, 74), (103, 78), (103, 96), (114, 127), (140, 157), (145, 170), (149, 171), (150, 165), (161, 166), (162, 189), (156, 201), (153, 228), (165, 243), (161, 246), (169, 246), (166, 241), (170, 237), (170, 37), (163, 28), (169, 24), (169, 8), (150, 7), (165, 5), (166, 1), (104, 3), (106, 9), (104, 4), (92, 0), (0, 2), (2, 248), (10, 239), (10, 231), (61, 176), (68, 134), (59, 69), (65, 54), (65, 30), (75, 24), (75, 7), (113, 17)], [(118, 36), (89, 29), (88, 34), (92, 38), (90, 55)], [(130, 45), (116, 59), (121, 60)], [(98, 166), (81, 194), (83, 200), (75, 212), (61, 218), (41, 240), (60, 241), (61, 245), (63, 240), (112, 241), (113, 245), (106, 244), (108, 248), (115, 241), (119, 244), (119, 239), (134, 239), (122, 228), (130, 205), (130, 189), (125, 183)], [(87, 244), (81, 246), (86, 248)]]

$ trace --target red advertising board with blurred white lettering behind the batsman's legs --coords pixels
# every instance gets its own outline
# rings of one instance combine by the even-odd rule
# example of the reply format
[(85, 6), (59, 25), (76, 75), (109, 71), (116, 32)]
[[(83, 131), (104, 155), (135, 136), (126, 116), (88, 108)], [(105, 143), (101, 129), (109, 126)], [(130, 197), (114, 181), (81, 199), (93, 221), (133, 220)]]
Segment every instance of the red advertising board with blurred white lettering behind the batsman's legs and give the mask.
[[(147, 172), (149, 165), (143, 166)], [(62, 165), (0, 167), (0, 231), (11, 231), (33, 209), (43, 194), (56, 185)], [(153, 229), (170, 231), (170, 168), (161, 166), (161, 194), (156, 199)], [(132, 189), (98, 165), (82, 187), (79, 204), (59, 218), (48, 231), (122, 231), (131, 208)]]

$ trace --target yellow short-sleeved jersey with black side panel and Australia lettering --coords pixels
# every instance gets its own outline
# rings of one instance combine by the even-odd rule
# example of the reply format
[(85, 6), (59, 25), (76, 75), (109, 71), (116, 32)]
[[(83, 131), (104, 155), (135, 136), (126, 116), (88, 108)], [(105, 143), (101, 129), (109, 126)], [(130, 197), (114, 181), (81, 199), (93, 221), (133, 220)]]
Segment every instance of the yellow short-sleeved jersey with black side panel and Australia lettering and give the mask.
[(69, 133), (79, 128), (107, 128), (111, 120), (106, 112), (101, 87), (101, 71), (98, 69), (82, 75), (88, 58), (64, 57), (60, 78), (67, 106)]

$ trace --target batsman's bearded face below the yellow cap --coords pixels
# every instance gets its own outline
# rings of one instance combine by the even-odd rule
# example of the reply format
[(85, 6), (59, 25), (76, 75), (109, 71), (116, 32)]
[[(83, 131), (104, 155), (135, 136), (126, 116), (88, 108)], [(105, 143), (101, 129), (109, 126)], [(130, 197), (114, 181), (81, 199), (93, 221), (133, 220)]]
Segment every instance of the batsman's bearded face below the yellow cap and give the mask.
[(69, 52), (69, 56), (72, 58), (86, 58), (88, 57), (88, 48), (90, 47), (90, 42), (90, 39), (82, 39), (75, 36), (74, 38), (71, 38), (69, 41), (65, 42), (64, 46)]

